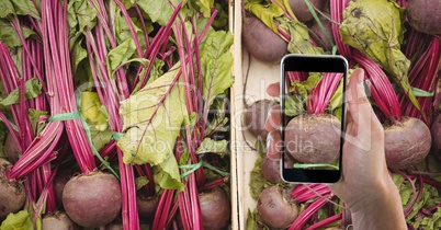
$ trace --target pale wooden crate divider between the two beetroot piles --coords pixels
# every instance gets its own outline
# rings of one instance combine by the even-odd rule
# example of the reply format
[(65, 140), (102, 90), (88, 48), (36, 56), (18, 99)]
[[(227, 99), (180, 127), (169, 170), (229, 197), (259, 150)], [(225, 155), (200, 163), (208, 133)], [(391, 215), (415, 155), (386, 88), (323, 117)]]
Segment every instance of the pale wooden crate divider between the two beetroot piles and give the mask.
[[(280, 79), (280, 65), (268, 65), (251, 57), (241, 46), (241, 1), (234, 1), (233, 33), (235, 84), (231, 89), (231, 204), (233, 229), (247, 229), (248, 209), (253, 210), (256, 200), (249, 192), (250, 172), (258, 158), (249, 145), (256, 138), (241, 128), (246, 104), (261, 99), (272, 99), (265, 92), (270, 83)], [(248, 76), (248, 81), (247, 80)], [(248, 142), (248, 143), (247, 143)], [(236, 171), (236, 172), (235, 172)], [(237, 226), (236, 226), (237, 221)]]

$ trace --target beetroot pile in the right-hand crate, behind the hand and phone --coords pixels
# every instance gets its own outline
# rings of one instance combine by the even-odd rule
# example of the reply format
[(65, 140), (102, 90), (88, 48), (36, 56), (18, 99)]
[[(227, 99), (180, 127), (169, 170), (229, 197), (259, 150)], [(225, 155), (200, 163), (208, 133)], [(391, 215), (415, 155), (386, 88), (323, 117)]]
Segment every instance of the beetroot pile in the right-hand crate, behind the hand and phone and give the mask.
[[(332, 54), (348, 59), (350, 72), (357, 67), (365, 70), (365, 87), (384, 125), (386, 162), (400, 191), (408, 227), (440, 228), (441, 20), (434, 12), (441, 11), (441, 1), (245, 0), (242, 7), (242, 41), (253, 58), (271, 66), (289, 53)], [(339, 95), (326, 95), (335, 92), (336, 82), (312, 84), (310, 79), (289, 77), (295, 102), (286, 105), (295, 108), (291, 116), (338, 118)], [(310, 101), (304, 91), (316, 96)], [(269, 107), (264, 103), (275, 102), (249, 105), (246, 124), (264, 124)], [(250, 129), (258, 142), (265, 139), (262, 130), (263, 126)], [(264, 152), (262, 142), (257, 146)], [(299, 158), (293, 154), (293, 160)], [(250, 229), (346, 229), (351, 225), (344, 204), (326, 185), (285, 184), (279, 176), (279, 162), (263, 154), (251, 172), (250, 191), (258, 202), (248, 214)]]

